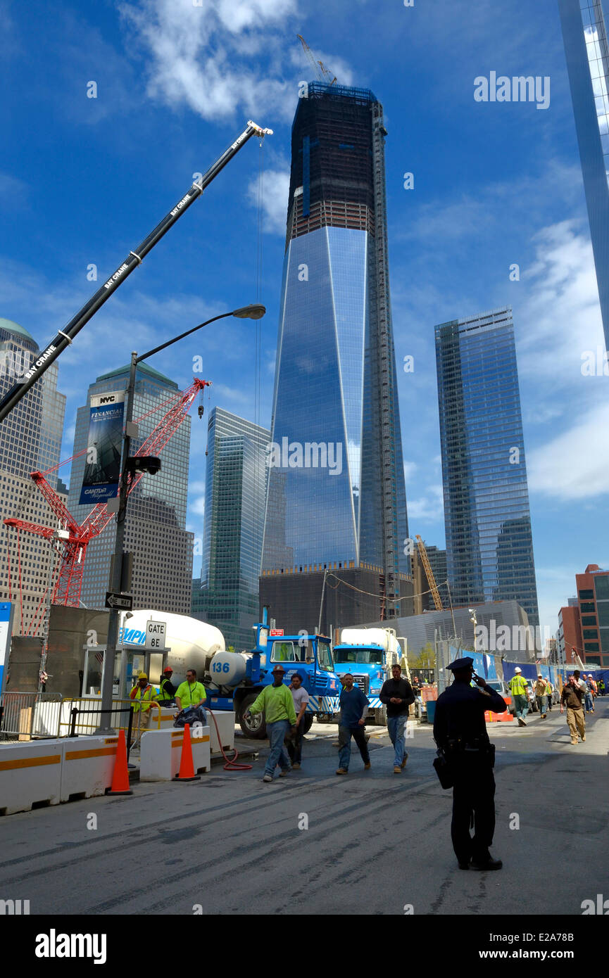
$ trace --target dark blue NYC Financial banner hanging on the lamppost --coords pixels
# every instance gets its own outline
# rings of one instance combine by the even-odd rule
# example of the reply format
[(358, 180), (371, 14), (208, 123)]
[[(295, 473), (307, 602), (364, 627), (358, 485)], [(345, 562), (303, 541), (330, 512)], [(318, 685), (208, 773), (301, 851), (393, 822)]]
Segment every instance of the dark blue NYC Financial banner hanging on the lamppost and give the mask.
[(105, 503), (117, 495), (122, 448), (124, 391), (93, 394), (80, 504)]

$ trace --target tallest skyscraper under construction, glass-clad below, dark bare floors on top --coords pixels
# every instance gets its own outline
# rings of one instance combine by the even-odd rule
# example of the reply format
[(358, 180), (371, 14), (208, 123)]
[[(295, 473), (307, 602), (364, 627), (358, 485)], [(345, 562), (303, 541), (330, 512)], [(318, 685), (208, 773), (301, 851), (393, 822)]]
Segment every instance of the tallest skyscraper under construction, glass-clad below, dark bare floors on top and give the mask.
[(411, 613), (386, 136), (367, 89), (299, 100), (260, 577), (286, 629)]

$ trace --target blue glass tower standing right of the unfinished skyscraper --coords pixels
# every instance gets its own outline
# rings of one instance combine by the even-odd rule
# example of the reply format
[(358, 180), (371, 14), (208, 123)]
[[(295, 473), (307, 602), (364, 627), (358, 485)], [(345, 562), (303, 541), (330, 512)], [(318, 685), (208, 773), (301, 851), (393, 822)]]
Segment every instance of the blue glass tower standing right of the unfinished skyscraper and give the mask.
[(517, 600), (538, 625), (511, 308), (437, 326), (436, 360), (452, 601)]

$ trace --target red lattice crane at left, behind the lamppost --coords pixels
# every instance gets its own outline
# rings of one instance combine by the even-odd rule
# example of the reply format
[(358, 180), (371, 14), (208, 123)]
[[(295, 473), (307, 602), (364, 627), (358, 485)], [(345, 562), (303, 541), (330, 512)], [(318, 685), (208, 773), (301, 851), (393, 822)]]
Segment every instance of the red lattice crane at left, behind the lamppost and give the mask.
[[(152, 434), (135, 453), (135, 457), (143, 455), (158, 455), (168, 442), (169, 438), (172, 437), (180, 424), (186, 418), (197, 394), (200, 391), (205, 390), (205, 388), (209, 387), (210, 385), (210, 380), (199, 380), (198, 378), (194, 378), (190, 387), (182, 391), (178, 397), (178, 400), (176, 400), (175, 403), (169, 408), (164, 417), (153, 430)], [(84, 451), (86, 451), (86, 449), (84, 449)], [(82, 455), (83, 452), (79, 454)], [(135, 489), (143, 475), (144, 472), (140, 472), (136, 474), (135, 477), (131, 477), (127, 488), (127, 495), (129, 495)], [(58, 517), (62, 530), (65, 531), (65, 533), (68, 533), (68, 537), (61, 541), (63, 542), (63, 551), (60, 552), (59, 574), (57, 576), (55, 587), (53, 588), (51, 603), (78, 607), (80, 603), (80, 589), (82, 587), (82, 573), (84, 570), (84, 558), (86, 556), (87, 547), (91, 540), (93, 540), (94, 537), (99, 536), (99, 534), (102, 533), (102, 531), (108, 526), (115, 513), (114, 511), (108, 511), (108, 506), (106, 503), (98, 503), (82, 522), (82, 524), (79, 525), (70, 513), (70, 510), (68, 510), (68, 508), (62, 502), (61, 497), (55, 492), (54, 489), (51, 488), (42, 472), (30, 472), (30, 477), (33, 479), (34, 483), (44, 496), (51, 510)], [(46, 540), (52, 540), (53, 538), (57, 539), (57, 528), (42, 526), (39, 523), (30, 523), (27, 522), (27, 520), (19, 519), (15, 516), (5, 519), (4, 523), (6, 526), (12, 526), (17, 529), (18, 534), (19, 531), (25, 530), (27, 533), (34, 533), (37, 536), (44, 537)], [(64, 534), (62, 534), (62, 536), (64, 536)], [(21, 589), (21, 574), (19, 583)], [(28, 633), (29, 629), (32, 629), (32, 627), (35, 626), (35, 629), (31, 632), (32, 635), (36, 634), (44, 617), (43, 611), (40, 615), (40, 620), (36, 623), (36, 618), (45, 596), (43, 596), (40, 600), (40, 603), (38, 604), (29, 625)], [(20, 599), (21, 598), (22, 596), (20, 595)]]

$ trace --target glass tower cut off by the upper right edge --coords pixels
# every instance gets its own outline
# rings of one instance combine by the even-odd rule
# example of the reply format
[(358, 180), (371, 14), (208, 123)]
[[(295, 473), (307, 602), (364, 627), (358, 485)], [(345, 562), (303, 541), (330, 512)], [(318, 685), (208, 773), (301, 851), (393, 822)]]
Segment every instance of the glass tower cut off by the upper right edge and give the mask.
[(609, 47), (607, 0), (558, 0), (580, 147), (598, 298), (609, 349)]

